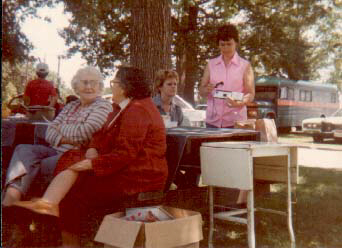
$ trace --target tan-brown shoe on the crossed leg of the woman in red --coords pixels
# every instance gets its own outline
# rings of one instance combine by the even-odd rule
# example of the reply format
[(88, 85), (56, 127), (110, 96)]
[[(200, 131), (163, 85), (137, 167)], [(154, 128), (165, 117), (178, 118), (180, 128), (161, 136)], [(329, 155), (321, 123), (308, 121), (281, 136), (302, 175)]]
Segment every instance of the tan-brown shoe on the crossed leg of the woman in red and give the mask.
[(59, 208), (57, 204), (48, 202), (44, 199), (35, 199), (31, 201), (17, 201), (15, 206), (29, 209), (39, 214), (47, 214), (59, 217)]

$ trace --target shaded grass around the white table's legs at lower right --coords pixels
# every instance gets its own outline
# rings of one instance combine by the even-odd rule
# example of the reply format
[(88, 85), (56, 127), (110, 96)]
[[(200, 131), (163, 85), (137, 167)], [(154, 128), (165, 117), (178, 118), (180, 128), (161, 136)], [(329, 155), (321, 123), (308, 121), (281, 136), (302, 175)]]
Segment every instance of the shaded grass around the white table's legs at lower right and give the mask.
[[(342, 171), (300, 168), (300, 184), (293, 204), (296, 247), (342, 247)], [(286, 209), (286, 187), (272, 185), (272, 197), (258, 198), (256, 205)], [(245, 225), (216, 221), (215, 247), (246, 247)], [(286, 217), (256, 213), (257, 247), (290, 247)], [(204, 226), (207, 247), (207, 223)]]

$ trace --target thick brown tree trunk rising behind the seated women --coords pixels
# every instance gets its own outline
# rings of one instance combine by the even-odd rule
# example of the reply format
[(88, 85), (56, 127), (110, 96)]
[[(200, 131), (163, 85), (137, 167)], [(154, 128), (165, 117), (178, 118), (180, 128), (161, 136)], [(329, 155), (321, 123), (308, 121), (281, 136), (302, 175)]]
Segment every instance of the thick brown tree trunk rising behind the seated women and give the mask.
[(130, 60), (153, 82), (155, 72), (171, 67), (169, 0), (131, 1)]

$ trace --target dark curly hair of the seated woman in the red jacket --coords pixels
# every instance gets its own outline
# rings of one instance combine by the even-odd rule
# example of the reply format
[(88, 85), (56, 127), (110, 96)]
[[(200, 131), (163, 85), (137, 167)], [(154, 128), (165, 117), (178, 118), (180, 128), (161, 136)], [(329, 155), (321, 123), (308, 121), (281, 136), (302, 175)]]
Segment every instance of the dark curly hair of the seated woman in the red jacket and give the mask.
[(142, 99), (151, 96), (152, 84), (147, 81), (144, 71), (130, 66), (120, 66), (116, 77), (125, 91), (126, 97)]

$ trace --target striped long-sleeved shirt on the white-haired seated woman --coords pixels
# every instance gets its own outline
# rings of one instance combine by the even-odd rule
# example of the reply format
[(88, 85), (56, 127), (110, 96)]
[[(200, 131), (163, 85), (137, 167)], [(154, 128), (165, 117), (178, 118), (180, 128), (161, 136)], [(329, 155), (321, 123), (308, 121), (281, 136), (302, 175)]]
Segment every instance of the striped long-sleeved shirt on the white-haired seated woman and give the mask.
[[(111, 103), (101, 97), (96, 98), (87, 107), (82, 107), (80, 100), (73, 101), (67, 104), (53, 121), (53, 124), (59, 125), (60, 130), (48, 127), (45, 139), (60, 152), (87, 145), (92, 135), (101, 129), (108, 114), (112, 111)], [(76, 145), (59, 144), (63, 137)]]

